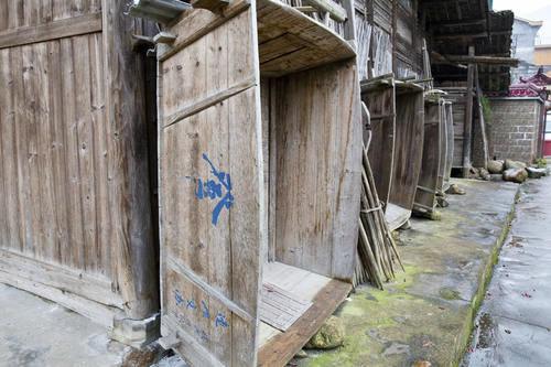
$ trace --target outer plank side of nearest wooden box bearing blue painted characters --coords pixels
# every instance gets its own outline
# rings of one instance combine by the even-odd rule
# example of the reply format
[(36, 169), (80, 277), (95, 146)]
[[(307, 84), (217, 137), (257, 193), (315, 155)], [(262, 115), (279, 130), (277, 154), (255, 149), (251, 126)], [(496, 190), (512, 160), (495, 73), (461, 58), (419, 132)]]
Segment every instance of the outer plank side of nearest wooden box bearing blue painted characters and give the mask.
[[(197, 366), (256, 363), (266, 213), (253, 14), (248, 8), (218, 21), (192, 11), (173, 25), (176, 42), (187, 25), (205, 33), (159, 64), (160, 119), (181, 116), (159, 132), (162, 333), (176, 331), (179, 353)], [(207, 182), (220, 185), (219, 196), (203, 192)], [(226, 194), (230, 205), (215, 216)], [(176, 290), (199, 309), (179, 306)]]

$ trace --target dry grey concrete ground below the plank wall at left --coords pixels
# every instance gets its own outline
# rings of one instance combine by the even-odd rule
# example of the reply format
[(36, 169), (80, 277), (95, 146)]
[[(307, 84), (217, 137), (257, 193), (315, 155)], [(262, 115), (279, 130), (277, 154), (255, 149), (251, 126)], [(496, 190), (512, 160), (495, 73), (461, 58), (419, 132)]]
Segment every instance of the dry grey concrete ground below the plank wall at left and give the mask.
[(0, 283), (0, 366), (120, 366), (130, 352), (106, 328), (55, 303)]

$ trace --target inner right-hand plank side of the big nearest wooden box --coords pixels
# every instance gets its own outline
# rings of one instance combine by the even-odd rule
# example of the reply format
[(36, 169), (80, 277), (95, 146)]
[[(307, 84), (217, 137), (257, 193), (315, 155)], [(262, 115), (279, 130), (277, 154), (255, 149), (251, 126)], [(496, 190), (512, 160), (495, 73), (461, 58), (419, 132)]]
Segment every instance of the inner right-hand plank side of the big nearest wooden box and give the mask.
[(352, 277), (357, 239), (348, 237), (353, 230), (344, 222), (359, 212), (361, 122), (354, 63), (276, 80), (276, 259), (339, 279)]

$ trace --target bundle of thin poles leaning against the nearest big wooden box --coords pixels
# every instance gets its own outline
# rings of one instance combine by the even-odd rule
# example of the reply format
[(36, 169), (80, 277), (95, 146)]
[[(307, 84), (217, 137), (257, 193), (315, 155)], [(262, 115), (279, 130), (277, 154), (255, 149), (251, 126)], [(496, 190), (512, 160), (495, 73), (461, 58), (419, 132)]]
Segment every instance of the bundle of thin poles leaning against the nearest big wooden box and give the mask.
[(383, 279), (390, 281), (395, 278), (395, 262), (398, 261), (402, 270), (403, 266), (385, 219), (365, 147), (363, 151), (361, 211), (354, 287), (369, 282), (382, 289)]

